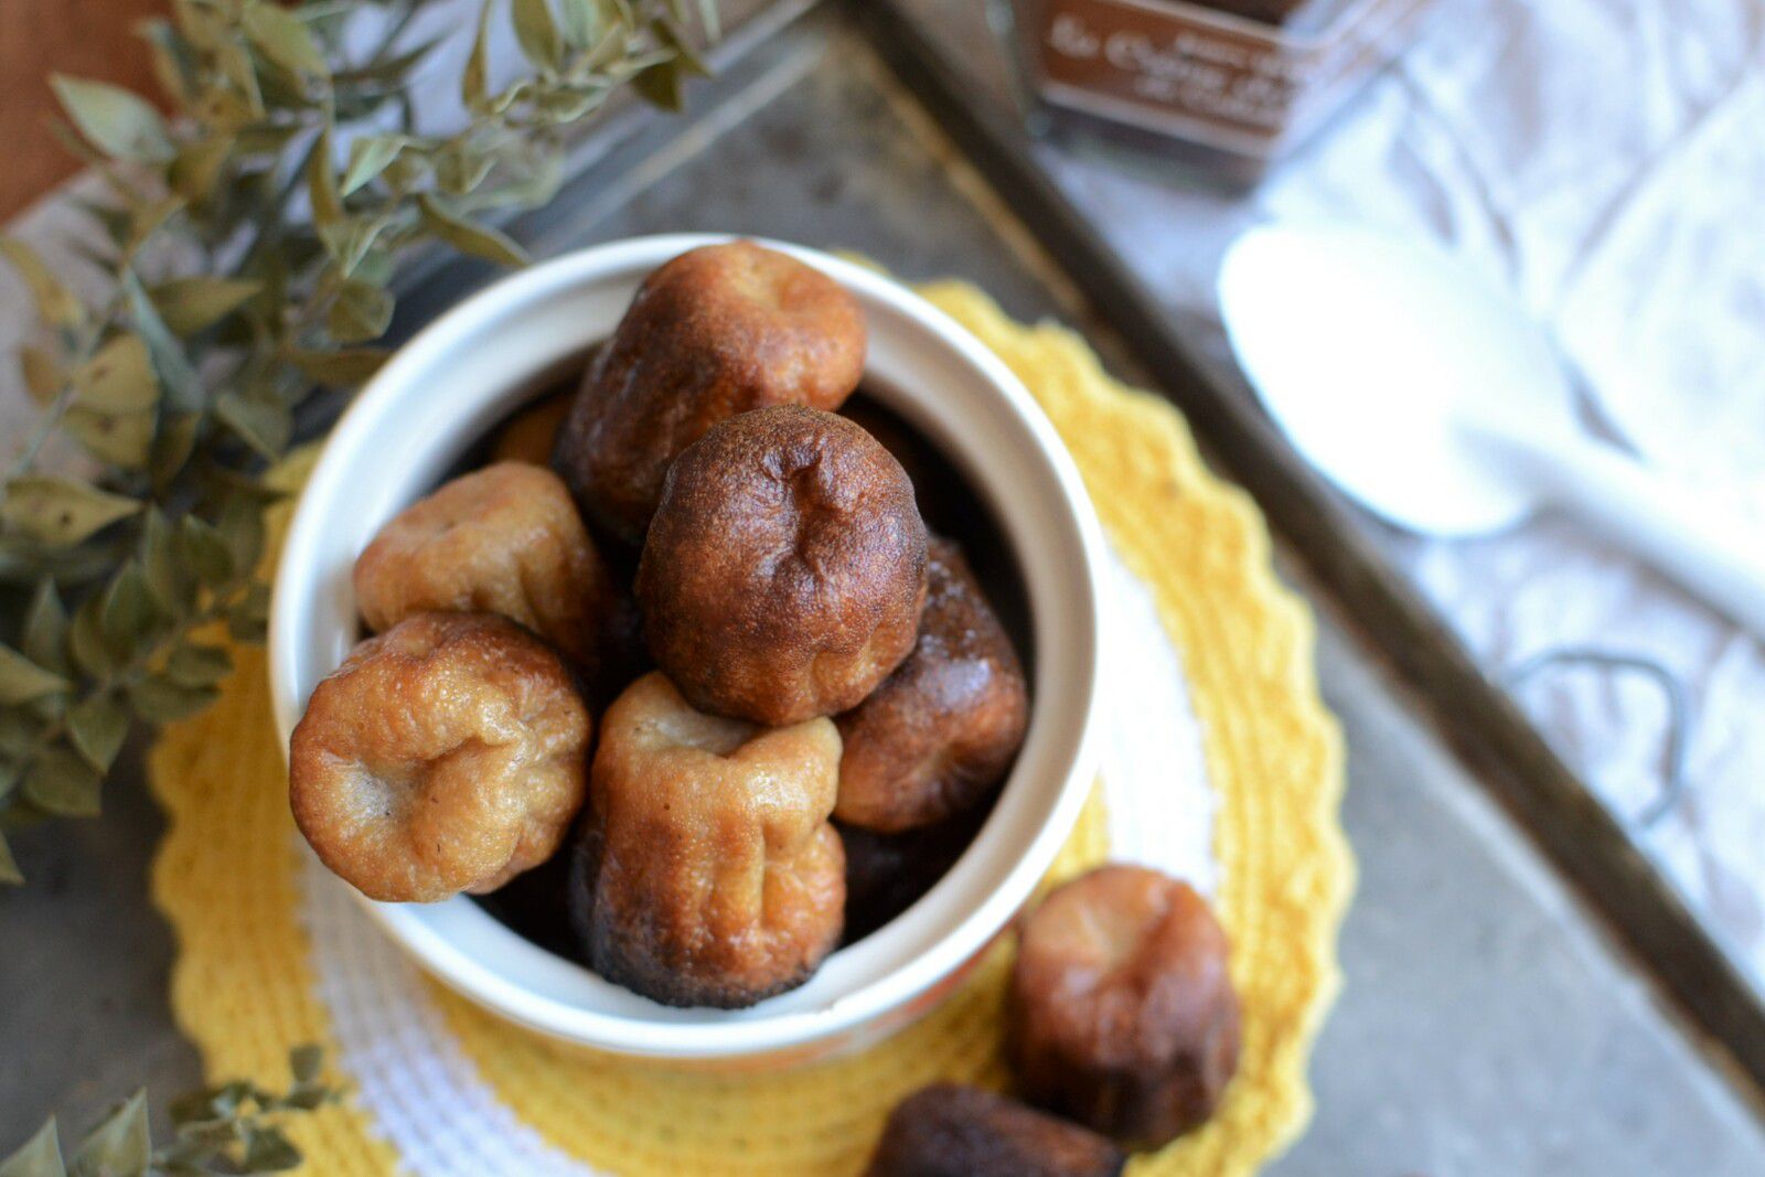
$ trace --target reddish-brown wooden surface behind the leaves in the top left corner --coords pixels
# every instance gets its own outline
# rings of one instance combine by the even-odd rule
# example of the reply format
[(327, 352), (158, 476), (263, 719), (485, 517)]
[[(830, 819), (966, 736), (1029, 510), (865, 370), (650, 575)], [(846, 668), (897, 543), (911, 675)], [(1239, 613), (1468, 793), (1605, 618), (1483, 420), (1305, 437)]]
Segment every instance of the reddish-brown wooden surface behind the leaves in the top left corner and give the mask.
[(0, 0), (0, 221), (78, 168), (49, 131), (49, 74), (101, 78), (154, 92), (141, 18), (166, 0)]

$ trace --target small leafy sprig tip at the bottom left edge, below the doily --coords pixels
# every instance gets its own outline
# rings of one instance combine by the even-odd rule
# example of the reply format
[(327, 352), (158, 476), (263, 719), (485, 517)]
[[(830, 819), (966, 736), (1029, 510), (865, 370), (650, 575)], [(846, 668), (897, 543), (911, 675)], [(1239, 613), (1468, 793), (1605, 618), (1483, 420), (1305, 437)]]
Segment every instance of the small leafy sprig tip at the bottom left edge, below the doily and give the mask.
[(0, 1177), (199, 1177), (300, 1168), (300, 1149), (282, 1122), (337, 1101), (337, 1089), (319, 1078), (323, 1062), (318, 1046), (297, 1046), (288, 1053), (293, 1083), (284, 1092), (235, 1080), (175, 1099), (169, 1112), (176, 1138), (161, 1149), (154, 1147), (146, 1091), (111, 1108), (69, 1159), (51, 1117), (0, 1161)]

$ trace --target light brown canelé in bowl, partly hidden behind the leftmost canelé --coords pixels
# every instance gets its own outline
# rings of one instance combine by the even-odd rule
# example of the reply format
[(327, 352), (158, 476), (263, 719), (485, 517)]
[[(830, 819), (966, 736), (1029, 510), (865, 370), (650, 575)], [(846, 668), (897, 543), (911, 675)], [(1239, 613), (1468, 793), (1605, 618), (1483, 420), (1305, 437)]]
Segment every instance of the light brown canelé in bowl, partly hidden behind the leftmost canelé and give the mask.
[(620, 591), (558, 475), (498, 462), (399, 512), (355, 561), (355, 598), (374, 632), (415, 612), (494, 612), (600, 674), (612, 658)]

